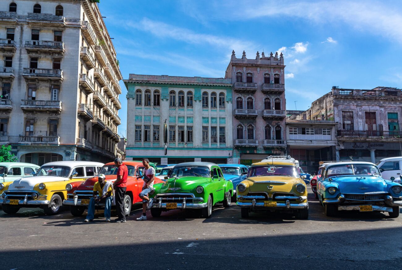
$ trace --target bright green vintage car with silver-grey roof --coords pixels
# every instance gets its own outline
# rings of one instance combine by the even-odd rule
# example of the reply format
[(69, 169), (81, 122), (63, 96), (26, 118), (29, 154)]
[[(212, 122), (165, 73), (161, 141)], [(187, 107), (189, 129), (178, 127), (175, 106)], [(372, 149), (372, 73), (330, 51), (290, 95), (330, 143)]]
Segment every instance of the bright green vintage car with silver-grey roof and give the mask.
[(154, 185), (152, 217), (172, 209), (200, 209), (205, 218), (212, 207), (223, 203), (230, 207), (233, 183), (226, 181), (221, 169), (209, 162), (185, 162), (174, 166), (170, 178)]

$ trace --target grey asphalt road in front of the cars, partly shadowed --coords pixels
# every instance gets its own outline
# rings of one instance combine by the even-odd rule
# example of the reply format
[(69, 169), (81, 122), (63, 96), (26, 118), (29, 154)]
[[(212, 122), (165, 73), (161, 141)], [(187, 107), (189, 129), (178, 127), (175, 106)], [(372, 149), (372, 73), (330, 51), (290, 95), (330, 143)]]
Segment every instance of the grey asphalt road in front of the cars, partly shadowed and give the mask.
[[(402, 215), (347, 212), (328, 218), (309, 194), (310, 217), (217, 206), (209, 219), (187, 211), (126, 223), (69, 211), (0, 211), (0, 269), (401, 269)], [(113, 212), (112, 212), (113, 215)]]

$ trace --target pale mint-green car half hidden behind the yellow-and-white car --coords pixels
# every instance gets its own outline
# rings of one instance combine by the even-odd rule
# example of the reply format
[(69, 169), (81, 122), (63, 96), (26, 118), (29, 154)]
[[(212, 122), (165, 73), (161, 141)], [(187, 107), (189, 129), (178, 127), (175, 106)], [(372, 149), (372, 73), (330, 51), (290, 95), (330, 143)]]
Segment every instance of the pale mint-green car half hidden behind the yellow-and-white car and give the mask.
[(24, 162), (0, 162), (0, 182), (12, 182), (18, 178), (31, 177), (40, 166)]

